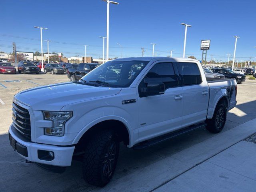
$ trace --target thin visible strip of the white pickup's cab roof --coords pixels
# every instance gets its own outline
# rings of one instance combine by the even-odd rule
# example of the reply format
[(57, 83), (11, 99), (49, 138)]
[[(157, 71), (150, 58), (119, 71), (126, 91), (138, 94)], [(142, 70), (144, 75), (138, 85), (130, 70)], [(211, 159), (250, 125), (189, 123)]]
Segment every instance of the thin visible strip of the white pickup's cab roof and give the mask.
[(191, 58), (176, 58), (176, 57), (127, 57), (127, 58), (117, 58), (113, 59), (115, 61), (132, 61), (132, 60), (142, 60), (142, 61), (151, 61), (151, 60), (188, 60), (188, 61), (198, 61)]

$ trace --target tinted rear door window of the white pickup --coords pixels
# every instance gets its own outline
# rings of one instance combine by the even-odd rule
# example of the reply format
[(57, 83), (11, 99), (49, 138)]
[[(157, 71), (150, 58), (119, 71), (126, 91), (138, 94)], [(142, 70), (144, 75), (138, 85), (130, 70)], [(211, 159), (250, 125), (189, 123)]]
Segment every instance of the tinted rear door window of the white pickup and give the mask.
[(184, 85), (196, 85), (202, 82), (201, 74), (196, 63), (177, 62), (180, 77)]

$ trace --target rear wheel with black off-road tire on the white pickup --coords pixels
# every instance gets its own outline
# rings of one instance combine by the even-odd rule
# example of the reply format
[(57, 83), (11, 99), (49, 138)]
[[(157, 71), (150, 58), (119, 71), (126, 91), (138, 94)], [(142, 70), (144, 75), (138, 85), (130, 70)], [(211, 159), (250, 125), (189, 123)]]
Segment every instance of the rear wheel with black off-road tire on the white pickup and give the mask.
[(216, 106), (212, 119), (206, 120), (206, 129), (212, 133), (219, 133), (225, 126), (227, 118), (227, 108), (223, 103)]

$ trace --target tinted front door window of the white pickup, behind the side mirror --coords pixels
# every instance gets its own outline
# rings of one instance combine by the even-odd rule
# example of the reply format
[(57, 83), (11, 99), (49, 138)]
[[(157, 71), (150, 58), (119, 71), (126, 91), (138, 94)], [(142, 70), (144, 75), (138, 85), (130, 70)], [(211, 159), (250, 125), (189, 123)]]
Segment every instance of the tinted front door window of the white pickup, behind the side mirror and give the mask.
[(145, 86), (147, 86), (150, 81), (163, 82), (165, 90), (178, 86), (178, 76), (174, 73), (172, 63), (155, 64), (144, 77)]

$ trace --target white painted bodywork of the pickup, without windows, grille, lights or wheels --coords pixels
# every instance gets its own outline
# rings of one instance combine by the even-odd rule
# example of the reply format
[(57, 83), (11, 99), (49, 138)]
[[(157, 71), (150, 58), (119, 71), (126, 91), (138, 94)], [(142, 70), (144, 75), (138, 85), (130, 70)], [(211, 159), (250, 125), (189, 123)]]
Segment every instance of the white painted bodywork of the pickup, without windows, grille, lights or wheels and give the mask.
[[(12, 126), (9, 129), (15, 140), (27, 146), (29, 155), (26, 159), (50, 165), (69, 166), (74, 145), (88, 129), (104, 120), (118, 120), (126, 126), (130, 139), (128, 147), (195, 123), (204, 122), (206, 118), (212, 118), (220, 98), (228, 97), (227, 89), (234, 88), (236, 85), (234, 79), (206, 82), (204, 71), (198, 60), (158, 57), (116, 60), (148, 60), (149, 63), (128, 88), (92, 87), (68, 82), (24, 90), (14, 96), (20, 102), (20, 106), (29, 110), (31, 118), (32, 142), (22, 141), (12, 131)], [(163, 61), (197, 63), (202, 83), (169, 88), (162, 95), (140, 98), (138, 95), (140, 80), (154, 64)], [(40, 100), (38, 100), (39, 95)], [(174, 100), (176, 95), (181, 95), (182, 99)], [(136, 99), (136, 102), (122, 104), (123, 100), (129, 99)], [(235, 91), (229, 101), (228, 110), (236, 106)], [(65, 124), (64, 136), (44, 135), (44, 128), (51, 125), (44, 120), (43, 110), (73, 112), (72, 118)], [(54, 162), (42, 162), (36, 158), (36, 150), (41, 148), (57, 152), (62, 158)]]

